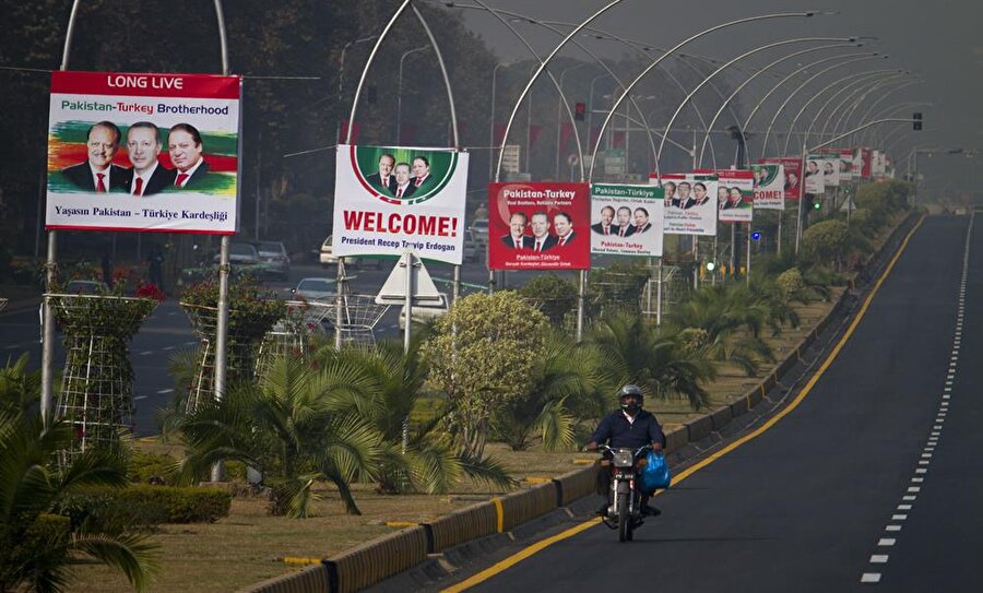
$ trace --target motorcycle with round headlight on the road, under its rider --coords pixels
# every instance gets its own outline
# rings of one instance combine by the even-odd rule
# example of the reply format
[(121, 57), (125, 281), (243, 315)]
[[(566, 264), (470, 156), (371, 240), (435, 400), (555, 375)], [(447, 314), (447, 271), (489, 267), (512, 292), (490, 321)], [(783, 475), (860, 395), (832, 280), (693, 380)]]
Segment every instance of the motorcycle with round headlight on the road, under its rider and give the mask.
[(617, 530), (618, 542), (630, 542), (635, 537), (636, 527), (642, 520), (641, 494), (636, 488), (641, 470), (640, 463), (646, 461), (646, 454), (652, 449), (647, 444), (638, 450), (613, 449), (606, 444), (597, 448), (600, 451), (611, 453), (609, 460), (602, 460), (601, 471), (611, 471), (611, 491), (608, 493), (607, 515), (601, 521)]

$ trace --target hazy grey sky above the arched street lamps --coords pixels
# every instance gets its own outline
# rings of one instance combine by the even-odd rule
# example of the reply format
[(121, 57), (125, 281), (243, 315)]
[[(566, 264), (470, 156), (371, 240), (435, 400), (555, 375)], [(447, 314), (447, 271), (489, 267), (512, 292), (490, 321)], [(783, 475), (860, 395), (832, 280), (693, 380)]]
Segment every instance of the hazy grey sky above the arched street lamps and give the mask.
[[(462, 3), (472, 3), (462, 0)], [(582, 21), (602, 8), (604, 0), (486, 0), (486, 3), (528, 14), (538, 20)], [(600, 16), (594, 23), (604, 29), (660, 47), (672, 47), (703, 28), (726, 21), (775, 12), (808, 10), (839, 11), (834, 15), (817, 15), (812, 19), (782, 19), (730, 27), (695, 41), (685, 51), (727, 60), (754, 47), (795, 37), (868, 35), (878, 37), (872, 50), (890, 55), (878, 62), (860, 62), (854, 70), (845, 67), (837, 72), (851, 72), (881, 68), (908, 69), (925, 80), (924, 84), (899, 91), (881, 105), (909, 100), (929, 102), (920, 107), (924, 112), (925, 131), (911, 135), (899, 144), (932, 147), (983, 149), (983, 2), (980, 0), (623, 0)], [(495, 49), (502, 59), (528, 57), (526, 50), (514, 41), (511, 34), (493, 16), (474, 10), (462, 11), (476, 33)], [(546, 55), (557, 43), (557, 37), (545, 35), (538, 27), (517, 25), (536, 49)], [(587, 40), (596, 52), (618, 58), (624, 49), (607, 40)], [(763, 66), (784, 52), (807, 47), (779, 48), (748, 59), (748, 66)], [(865, 48), (866, 49), (866, 48)], [(582, 52), (571, 48), (565, 56), (585, 59)], [(817, 59), (815, 55), (810, 59)], [(739, 79), (738, 79), (739, 80)], [(829, 78), (825, 84), (834, 80)], [(748, 87), (750, 90), (750, 87)], [(819, 87), (817, 86), (817, 90)], [(751, 91), (762, 93), (761, 87)], [(871, 99), (873, 100), (872, 95)], [(745, 104), (748, 98), (745, 97)], [(878, 109), (879, 110), (879, 109)], [(911, 114), (905, 110), (903, 117)], [(895, 124), (890, 124), (895, 126)], [(897, 124), (905, 126), (905, 124)], [(910, 129), (910, 127), (909, 127)], [(885, 130), (886, 132), (887, 130)], [(907, 132), (905, 132), (907, 133)], [(893, 134), (900, 138), (902, 131)], [(899, 158), (899, 156), (896, 156)], [(983, 157), (980, 157), (983, 158)], [(980, 158), (975, 159), (976, 164)], [(950, 158), (950, 161), (956, 161)], [(959, 161), (964, 161), (960, 158)], [(935, 166), (943, 159), (935, 158)], [(963, 177), (964, 163), (950, 163), (945, 169)], [(925, 166), (928, 166), (927, 161)], [(979, 166), (979, 165), (975, 165)], [(976, 179), (978, 181), (983, 181)]]

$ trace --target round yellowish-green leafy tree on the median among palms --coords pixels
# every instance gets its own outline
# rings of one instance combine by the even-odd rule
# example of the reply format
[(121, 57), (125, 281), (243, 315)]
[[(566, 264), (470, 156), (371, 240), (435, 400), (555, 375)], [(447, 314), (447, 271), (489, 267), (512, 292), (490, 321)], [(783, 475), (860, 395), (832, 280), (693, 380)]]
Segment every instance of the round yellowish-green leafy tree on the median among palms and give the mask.
[(513, 292), (473, 294), (437, 322), (423, 346), (430, 382), (450, 404), (464, 454), (483, 459), (492, 415), (529, 392), (549, 322)]

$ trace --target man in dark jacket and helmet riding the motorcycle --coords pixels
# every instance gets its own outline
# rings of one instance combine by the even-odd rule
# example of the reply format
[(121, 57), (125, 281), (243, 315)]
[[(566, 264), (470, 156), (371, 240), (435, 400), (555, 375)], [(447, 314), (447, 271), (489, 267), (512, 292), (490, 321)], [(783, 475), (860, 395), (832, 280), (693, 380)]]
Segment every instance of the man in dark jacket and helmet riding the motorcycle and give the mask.
[[(604, 416), (594, 434), (591, 435), (591, 442), (588, 443), (588, 451), (596, 451), (600, 443), (607, 443), (614, 449), (632, 449), (637, 450), (646, 444), (651, 444), (655, 451), (662, 451), (665, 448), (665, 435), (662, 432), (662, 426), (655, 419), (655, 415), (651, 412), (642, 410), (644, 396), (641, 389), (636, 384), (627, 384), (618, 392), (619, 410), (616, 410)], [(605, 458), (611, 458), (605, 453)], [(599, 460), (599, 463), (601, 461)], [(601, 467), (597, 471), (597, 494), (604, 499), (597, 513), (602, 517), (607, 515), (608, 495), (611, 494), (611, 472), (607, 467)], [(649, 507), (649, 497), (642, 494), (641, 511), (642, 514), (655, 517), (662, 511), (654, 507)]]

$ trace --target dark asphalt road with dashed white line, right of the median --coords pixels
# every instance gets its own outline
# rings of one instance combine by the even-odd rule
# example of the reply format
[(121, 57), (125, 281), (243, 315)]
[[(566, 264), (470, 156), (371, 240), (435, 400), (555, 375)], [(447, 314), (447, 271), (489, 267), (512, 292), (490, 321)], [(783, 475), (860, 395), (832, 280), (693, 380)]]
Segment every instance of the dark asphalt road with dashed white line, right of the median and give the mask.
[(969, 222), (927, 218), (802, 404), (656, 497), (635, 542), (594, 526), (473, 591), (983, 590), (979, 228), (958, 317)]

